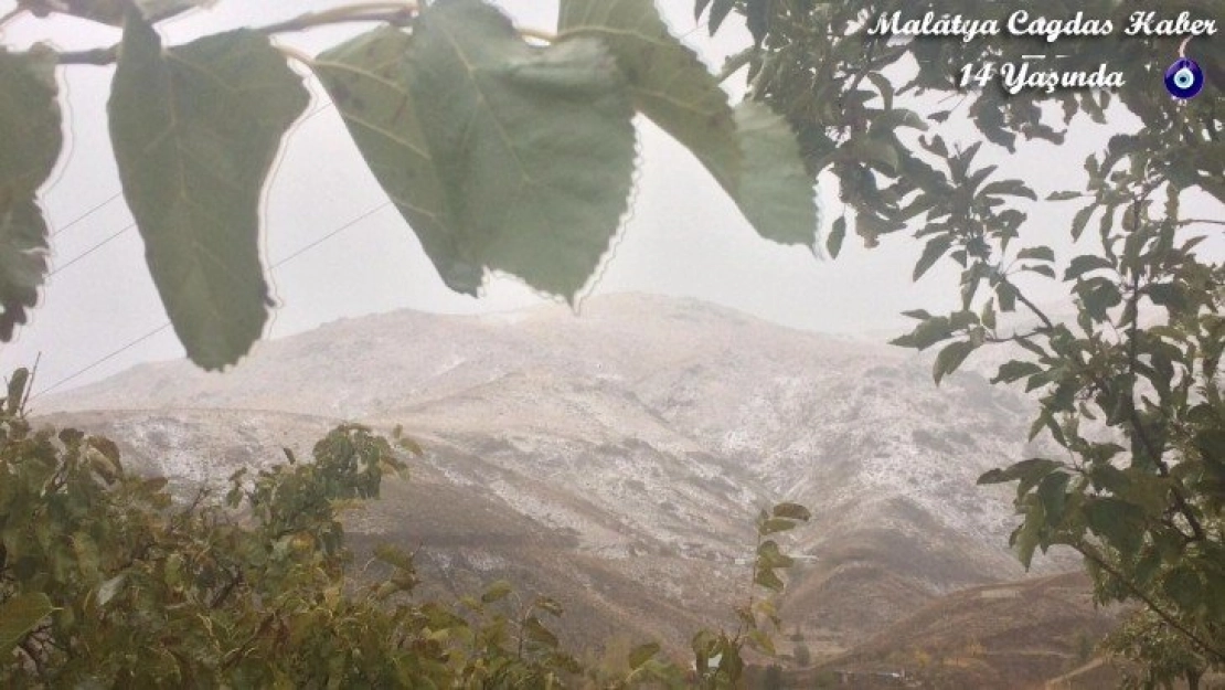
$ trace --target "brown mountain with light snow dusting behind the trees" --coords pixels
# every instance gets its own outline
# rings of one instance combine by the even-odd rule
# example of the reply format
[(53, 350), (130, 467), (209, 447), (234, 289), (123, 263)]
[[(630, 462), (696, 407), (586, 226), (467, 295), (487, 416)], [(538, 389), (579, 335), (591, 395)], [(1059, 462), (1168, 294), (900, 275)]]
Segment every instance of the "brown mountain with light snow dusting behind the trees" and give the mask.
[[(349, 520), (359, 547), (420, 547), (442, 585), (507, 578), (567, 604), (584, 641), (685, 645), (731, 625), (756, 511), (813, 511), (785, 627), (837, 652), (936, 598), (1025, 574), (1007, 488), (1031, 403), (927, 358), (693, 300), (621, 294), (483, 316), (413, 311), (260, 343), (225, 374), (146, 364), (38, 401), (192, 483), (309, 452), (339, 420), (402, 425), (408, 482)], [(1074, 565), (1066, 558), (1040, 572)]]

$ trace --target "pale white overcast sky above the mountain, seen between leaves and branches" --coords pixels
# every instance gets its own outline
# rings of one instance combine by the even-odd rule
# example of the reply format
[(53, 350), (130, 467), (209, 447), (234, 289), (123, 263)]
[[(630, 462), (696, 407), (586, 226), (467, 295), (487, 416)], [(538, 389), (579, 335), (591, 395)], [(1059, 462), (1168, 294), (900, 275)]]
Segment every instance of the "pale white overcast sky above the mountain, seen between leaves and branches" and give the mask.
[[(162, 33), (168, 42), (180, 43), (202, 33), (268, 23), (339, 4), (221, 0), (211, 10), (168, 22)], [(521, 26), (548, 29), (555, 25), (554, 1), (499, 4)], [(692, 5), (692, 0), (660, 1), (674, 31), (686, 36), (708, 64), (718, 66), (747, 43), (742, 26), (731, 20), (718, 39), (710, 40), (704, 27), (696, 26)], [(0, 1), (0, 12), (12, 6), (12, 1)], [(354, 31), (328, 28), (279, 40), (316, 53)], [(83, 21), (27, 17), (6, 27), (4, 43), (26, 47), (48, 38), (59, 48), (76, 49), (109, 45), (119, 39), (119, 32)], [(154, 332), (165, 322), (165, 313), (145, 267), (140, 237), (130, 228), (131, 216), (116, 196), (119, 180), (103, 116), (113, 71), (92, 66), (60, 70), (60, 83), (71, 103), (71, 124), (65, 154), (42, 196), (51, 230), (58, 233), (51, 241), (55, 273), (48, 279), (33, 321), (16, 342), (0, 346), (0, 371), (5, 373), (29, 365), (42, 354), (37, 389), (61, 381), (149, 333), (71, 385), (140, 362), (183, 355), (169, 327)], [(265, 265), (284, 261), (272, 271), (281, 308), (268, 330), (271, 337), (338, 317), (403, 308), (458, 314), (544, 301), (518, 281), (505, 277), (492, 279), (479, 299), (447, 290), (415, 235), (396, 210), (385, 205), (386, 196), (317, 82), (309, 80), (307, 86), (315, 93), (307, 109), (314, 115), (290, 132), (265, 194)], [(1098, 151), (1109, 134), (1134, 127), (1134, 119), (1128, 116), (1116, 118), (1106, 127), (1082, 124), (1062, 146), (1038, 142), (1023, 146), (1017, 156), (1008, 157), (1002, 150), (995, 154), (1003, 174), (1030, 180), (1041, 197), (1078, 186), (1085, 156)], [(767, 243), (685, 150), (649, 124), (643, 123), (639, 131), (642, 174), (633, 213), (590, 294), (639, 290), (696, 297), (784, 325), (827, 332), (895, 331), (905, 325), (898, 316), (903, 310), (952, 306), (957, 292), (951, 268), (935, 270), (919, 284), (910, 282), (919, 243), (899, 235), (867, 251), (851, 234), (835, 261), (818, 260), (802, 248)], [(956, 119), (936, 131), (954, 141), (971, 136)], [(828, 227), (840, 208), (828, 181), (821, 185), (821, 192)], [(1220, 216), (1219, 208), (1204, 207)], [(380, 210), (293, 256), (374, 208)], [(1023, 240), (1065, 246), (1066, 228), (1076, 210), (1076, 203), (1041, 205), (1031, 213)], [(1225, 254), (1219, 233), (1213, 243), (1209, 252)], [(293, 259), (285, 261), (289, 256)]]

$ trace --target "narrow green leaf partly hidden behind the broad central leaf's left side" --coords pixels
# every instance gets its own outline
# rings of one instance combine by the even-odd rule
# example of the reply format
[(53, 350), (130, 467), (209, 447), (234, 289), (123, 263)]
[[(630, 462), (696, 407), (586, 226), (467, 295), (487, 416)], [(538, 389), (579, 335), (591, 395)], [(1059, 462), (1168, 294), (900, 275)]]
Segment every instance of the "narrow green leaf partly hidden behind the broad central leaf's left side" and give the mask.
[(412, 37), (382, 27), (312, 63), (353, 141), (383, 191), (421, 240), (451, 289), (475, 295), (481, 282), (470, 241), (446, 217), (446, 195), (413, 107), (404, 58)]

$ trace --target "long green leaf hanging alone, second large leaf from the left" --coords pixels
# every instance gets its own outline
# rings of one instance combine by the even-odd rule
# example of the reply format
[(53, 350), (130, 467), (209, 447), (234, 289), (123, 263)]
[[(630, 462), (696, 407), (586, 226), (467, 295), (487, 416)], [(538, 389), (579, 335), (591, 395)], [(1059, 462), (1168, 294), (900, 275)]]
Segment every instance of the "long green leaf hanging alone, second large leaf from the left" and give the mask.
[(124, 196), (187, 355), (219, 369), (267, 320), (260, 195), (309, 94), (250, 31), (163, 50), (134, 13), (121, 48), (109, 113)]

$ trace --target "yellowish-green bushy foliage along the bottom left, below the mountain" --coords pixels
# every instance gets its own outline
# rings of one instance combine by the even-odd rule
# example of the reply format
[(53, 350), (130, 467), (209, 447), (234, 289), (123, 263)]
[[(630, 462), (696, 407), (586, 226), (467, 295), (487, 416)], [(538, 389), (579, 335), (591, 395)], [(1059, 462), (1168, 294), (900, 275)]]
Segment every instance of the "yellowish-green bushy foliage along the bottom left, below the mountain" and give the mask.
[[(772, 596), (789, 564), (771, 533), (809, 514), (763, 511), (750, 597), (735, 632), (693, 637), (696, 675), (659, 643), (633, 646), (612, 675), (582, 665), (552, 625), (562, 605), (507, 582), (423, 599), (410, 554), (375, 548), (361, 577), (341, 511), (376, 499), (419, 452), (338, 427), (311, 462), (224, 495), (175, 499), (165, 478), (125, 469), (118, 446), (34, 429), (18, 371), (0, 398), (0, 685), (5, 688), (682, 688), (739, 686), (745, 648), (773, 654)], [(760, 585), (760, 587), (757, 586)], [(772, 623), (769, 623), (772, 621)]]

